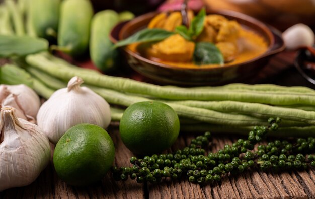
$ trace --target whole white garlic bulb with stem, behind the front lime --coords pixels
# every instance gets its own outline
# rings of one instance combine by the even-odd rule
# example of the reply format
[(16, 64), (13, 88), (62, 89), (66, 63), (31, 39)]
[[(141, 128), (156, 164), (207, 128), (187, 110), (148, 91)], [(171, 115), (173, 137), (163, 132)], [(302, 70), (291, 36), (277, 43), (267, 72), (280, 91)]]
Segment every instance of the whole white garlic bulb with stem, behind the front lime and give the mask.
[(54, 144), (76, 124), (90, 123), (107, 128), (110, 123), (109, 104), (91, 89), (80, 87), (82, 83), (81, 78), (73, 77), (67, 88), (54, 92), (38, 111), (38, 126)]

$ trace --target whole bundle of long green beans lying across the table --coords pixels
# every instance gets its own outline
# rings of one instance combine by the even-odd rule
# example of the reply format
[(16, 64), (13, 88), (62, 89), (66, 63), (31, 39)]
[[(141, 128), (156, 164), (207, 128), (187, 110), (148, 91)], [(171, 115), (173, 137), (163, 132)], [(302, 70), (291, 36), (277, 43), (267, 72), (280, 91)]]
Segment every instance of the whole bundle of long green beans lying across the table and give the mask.
[[(123, 109), (148, 100), (169, 104), (181, 119), (182, 131), (235, 132), (245, 134), (266, 118), (279, 116), (281, 128), (272, 136), (311, 136), (315, 132), (315, 91), (306, 87), (229, 84), (218, 87), (180, 88), (157, 86), (131, 79), (112, 77), (71, 65), (47, 52), (14, 60), (34, 81), (44, 98), (73, 76), (80, 76), (112, 108), (112, 120), (119, 121)], [(4, 71), (4, 70), (3, 70)]]

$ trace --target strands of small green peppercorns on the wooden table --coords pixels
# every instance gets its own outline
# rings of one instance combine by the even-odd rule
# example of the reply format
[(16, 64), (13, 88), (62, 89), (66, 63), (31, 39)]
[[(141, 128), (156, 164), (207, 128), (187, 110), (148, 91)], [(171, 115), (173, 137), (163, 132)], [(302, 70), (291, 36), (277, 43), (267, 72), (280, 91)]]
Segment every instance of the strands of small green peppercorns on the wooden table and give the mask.
[[(206, 151), (211, 143), (210, 132), (191, 140), (188, 147), (175, 153), (145, 156), (143, 159), (130, 158), (131, 167), (112, 167), (115, 180), (136, 179), (138, 183), (157, 183), (163, 178), (182, 179), (205, 184), (220, 181), (221, 177), (231, 173), (244, 172), (251, 167), (263, 171), (307, 169), (315, 167), (315, 138), (295, 140), (274, 140), (266, 145), (256, 144), (265, 139), (267, 133), (278, 129), (280, 118), (269, 118), (268, 126), (255, 126), (248, 139), (239, 139), (232, 145), (225, 145), (216, 153)], [(304, 154), (304, 155), (303, 155)], [(310, 154), (310, 155), (306, 155)]]

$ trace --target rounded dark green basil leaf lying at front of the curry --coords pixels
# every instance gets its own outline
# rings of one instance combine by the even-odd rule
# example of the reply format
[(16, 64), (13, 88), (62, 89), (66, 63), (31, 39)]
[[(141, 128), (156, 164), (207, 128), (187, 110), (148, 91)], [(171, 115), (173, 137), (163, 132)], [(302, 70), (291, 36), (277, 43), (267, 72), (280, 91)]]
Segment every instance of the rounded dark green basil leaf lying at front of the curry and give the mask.
[(196, 43), (193, 61), (196, 65), (223, 64), (224, 58), (220, 50), (210, 42)]

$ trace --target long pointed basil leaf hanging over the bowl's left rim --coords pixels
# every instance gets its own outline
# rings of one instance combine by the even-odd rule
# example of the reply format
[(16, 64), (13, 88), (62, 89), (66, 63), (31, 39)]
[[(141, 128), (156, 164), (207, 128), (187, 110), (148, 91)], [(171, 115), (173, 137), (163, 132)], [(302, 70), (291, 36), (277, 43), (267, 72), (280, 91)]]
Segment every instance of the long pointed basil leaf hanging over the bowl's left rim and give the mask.
[(129, 45), (132, 43), (138, 43), (138, 42), (152, 42), (152, 41), (161, 41), (169, 36), (175, 34), (174, 32), (169, 32), (160, 28), (153, 28), (153, 29), (143, 29), (139, 32), (131, 35), (127, 39), (121, 40), (117, 42), (114, 47), (121, 47), (125, 45)]

